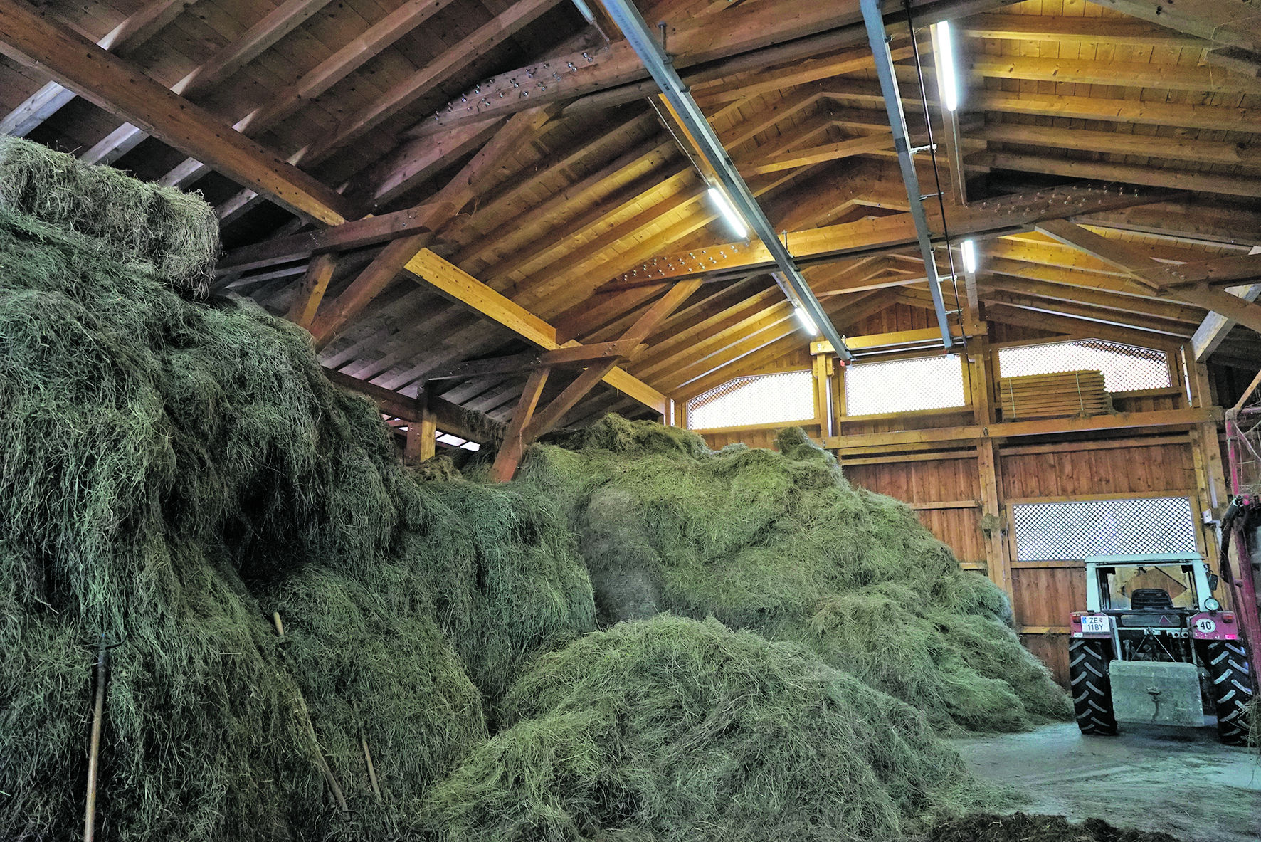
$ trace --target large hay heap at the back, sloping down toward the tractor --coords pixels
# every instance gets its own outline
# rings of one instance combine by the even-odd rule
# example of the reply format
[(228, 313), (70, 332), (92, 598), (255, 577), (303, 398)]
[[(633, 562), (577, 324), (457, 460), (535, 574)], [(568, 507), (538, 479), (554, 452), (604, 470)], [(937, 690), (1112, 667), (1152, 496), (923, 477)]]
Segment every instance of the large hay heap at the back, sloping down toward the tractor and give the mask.
[(711, 453), (695, 434), (608, 416), (532, 449), (523, 483), (564, 503), (605, 625), (671, 611), (794, 640), (943, 729), (1071, 715), (1001, 591), (799, 430), (778, 444)]

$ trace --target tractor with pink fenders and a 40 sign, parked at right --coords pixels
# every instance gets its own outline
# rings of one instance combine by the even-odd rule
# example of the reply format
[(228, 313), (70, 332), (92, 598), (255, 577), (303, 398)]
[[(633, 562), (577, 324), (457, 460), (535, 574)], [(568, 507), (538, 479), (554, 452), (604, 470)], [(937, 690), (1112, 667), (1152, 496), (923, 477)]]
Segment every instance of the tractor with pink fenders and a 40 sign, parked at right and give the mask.
[(1093, 556), (1086, 610), (1073, 611), (1069, 689), (1082, 734), (1117, 722), (1199, 727), (1217, 717), (1227, 745), (1248, 741), (1255, 693), (1246, 637), (1198, 555)]

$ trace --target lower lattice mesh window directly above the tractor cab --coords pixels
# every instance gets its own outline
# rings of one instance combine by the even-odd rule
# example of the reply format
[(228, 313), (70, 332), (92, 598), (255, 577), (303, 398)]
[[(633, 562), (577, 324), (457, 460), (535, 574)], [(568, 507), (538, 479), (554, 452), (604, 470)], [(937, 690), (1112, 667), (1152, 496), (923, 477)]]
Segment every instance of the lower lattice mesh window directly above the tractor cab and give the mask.
[(1019, 561), (1197, 552), (1195, 521), (1185, 497), (1016, 503), (1011, 526)]

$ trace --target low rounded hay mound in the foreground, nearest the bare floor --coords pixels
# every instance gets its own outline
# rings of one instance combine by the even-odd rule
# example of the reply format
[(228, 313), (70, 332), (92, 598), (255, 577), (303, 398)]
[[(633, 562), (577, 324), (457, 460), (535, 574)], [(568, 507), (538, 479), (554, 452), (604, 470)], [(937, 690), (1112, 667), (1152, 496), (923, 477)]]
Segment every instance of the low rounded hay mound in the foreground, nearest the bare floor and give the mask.
[(675, 616), (543, 655), (429, 798), (440, 839), (892, 839), (976, 789), (914, 708), (793, 644)]

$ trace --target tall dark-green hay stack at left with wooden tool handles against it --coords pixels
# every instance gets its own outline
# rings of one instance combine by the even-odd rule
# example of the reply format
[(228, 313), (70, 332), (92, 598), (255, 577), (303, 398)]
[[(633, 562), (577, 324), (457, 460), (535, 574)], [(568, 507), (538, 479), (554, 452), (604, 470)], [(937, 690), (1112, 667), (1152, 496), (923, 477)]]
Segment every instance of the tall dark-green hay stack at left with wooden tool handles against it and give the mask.
[(304, 332), (183, 297), (174, 228), (117, 241), (122, 218), (156, 224), (132, 218), (136, 183), (4, 155), (0, 838), (81, 832), (102, 637), (97, 838), (388, 827), (536, 648), (593, 628), (567, 528), (530, 489), (419, 482)]

